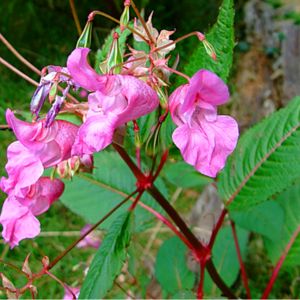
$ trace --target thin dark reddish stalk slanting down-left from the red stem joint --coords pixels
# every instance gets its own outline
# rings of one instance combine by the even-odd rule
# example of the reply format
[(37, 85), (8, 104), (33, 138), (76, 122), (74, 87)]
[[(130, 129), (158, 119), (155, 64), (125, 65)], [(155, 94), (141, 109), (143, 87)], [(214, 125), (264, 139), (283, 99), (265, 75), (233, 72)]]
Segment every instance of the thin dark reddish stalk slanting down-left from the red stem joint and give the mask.
[(95, 225), (93, 225), (87, 232), (85, 232), (78, 240), (72, 243), (67, 249), (60, 253), (48, 266), (48, 270), (52, 269), (63, 257), (65, 257), (80, 241), (82, 241), (88, 234), (90, 234), (94, 229), (96, 229), (101, 223), (103, 223), (109, 216), (111, 216), (118, 208), (125, 204), (137, 190), (128, 195), (123, 201), (117, 204), (113, 209), (111, 209), (101, 220), (99, 220)]

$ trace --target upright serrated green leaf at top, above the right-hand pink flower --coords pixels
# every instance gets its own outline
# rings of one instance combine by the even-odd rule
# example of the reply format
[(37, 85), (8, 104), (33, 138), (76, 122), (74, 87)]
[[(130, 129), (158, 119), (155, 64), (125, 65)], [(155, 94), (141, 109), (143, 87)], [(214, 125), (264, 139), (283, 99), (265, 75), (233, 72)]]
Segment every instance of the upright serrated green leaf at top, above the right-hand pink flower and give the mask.
[(207, 41), (215, 48), (217, 60), (214, 61), (207, 55), (203, 44), (199, 41), (199, 46), (191, 55), (190, 63), (186, 64), (184, 73), (192, 76), (199, 69), (206, 69), (216, 73), (226, 82), (232, 66), (234, 48), (233, 25), (233, 0), (223, 0), (218, 20), (206, 35)]

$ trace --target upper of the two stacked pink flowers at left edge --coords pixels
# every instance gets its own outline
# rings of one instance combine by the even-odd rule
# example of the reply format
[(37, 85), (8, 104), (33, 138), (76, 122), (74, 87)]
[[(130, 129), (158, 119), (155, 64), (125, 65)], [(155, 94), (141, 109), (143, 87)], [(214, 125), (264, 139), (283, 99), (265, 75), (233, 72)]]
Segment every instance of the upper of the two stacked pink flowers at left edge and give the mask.
[(44, 168), (57, 165), (71, 157), (78, 127), (66, 121), (55, 121), (49, 128), (44, 120), (27, 123), (18, 120), (11, 110), (6, 119), (19, 141), (7, 149), (8, 178), (2, 177), (0, 188), (10, 193), (20, 193), (20, 189), (34, 184), (43, 174)]

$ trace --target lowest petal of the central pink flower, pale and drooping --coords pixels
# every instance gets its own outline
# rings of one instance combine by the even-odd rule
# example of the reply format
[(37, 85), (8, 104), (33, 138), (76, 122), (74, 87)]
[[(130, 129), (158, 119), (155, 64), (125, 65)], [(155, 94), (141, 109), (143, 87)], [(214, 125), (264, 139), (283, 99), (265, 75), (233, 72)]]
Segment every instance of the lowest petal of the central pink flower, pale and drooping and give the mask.
[(72, 148), (72, 156), (92, 154), (112, 143), (116, 119), (111, 116), (93, 116), (81, 125)]

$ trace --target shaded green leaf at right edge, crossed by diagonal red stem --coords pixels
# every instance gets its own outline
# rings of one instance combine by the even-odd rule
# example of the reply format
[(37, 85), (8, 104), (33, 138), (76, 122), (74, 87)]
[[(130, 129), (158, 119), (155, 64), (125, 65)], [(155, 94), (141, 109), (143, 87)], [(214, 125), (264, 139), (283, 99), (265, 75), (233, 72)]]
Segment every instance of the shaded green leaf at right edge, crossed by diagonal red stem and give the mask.
[[(294, 185), (281, 195), (276, 202), (282, 207), (285, 214), (282, 226), (278, 224), (276, 239), (265, 239), (267, 253), (275, 264), (289, 243), (293, 233), (300, 226), (300, 185)], [(268, 212), (270, 213), (270, 211)], [(272, 212), (273, 214), (273, 212)], [(276, 216), (274, 216), (276, 218)], [(284, 261), (283, 267), (295, 267), (300, 265), (300, 235), (298, 235), (292, 248)]]

